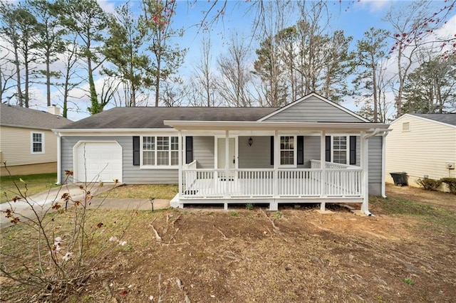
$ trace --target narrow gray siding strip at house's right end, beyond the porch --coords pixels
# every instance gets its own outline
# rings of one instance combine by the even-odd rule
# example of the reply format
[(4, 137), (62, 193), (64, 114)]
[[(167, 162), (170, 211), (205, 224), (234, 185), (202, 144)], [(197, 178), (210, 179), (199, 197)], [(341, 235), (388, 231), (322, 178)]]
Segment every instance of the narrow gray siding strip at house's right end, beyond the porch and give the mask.
[(369, 141), (369, 194), (380, 196), (382, 191), (382, 136)]

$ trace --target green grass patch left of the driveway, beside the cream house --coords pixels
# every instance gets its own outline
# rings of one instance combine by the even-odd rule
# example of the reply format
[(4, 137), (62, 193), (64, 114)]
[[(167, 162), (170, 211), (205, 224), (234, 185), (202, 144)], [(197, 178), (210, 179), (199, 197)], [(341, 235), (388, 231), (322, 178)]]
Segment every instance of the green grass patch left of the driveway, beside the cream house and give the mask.
[[(24, 182), (21, 182), (21, 179)], [(50, 188), (57, 187), (57, 174), (35, 174), (35, 175), (26, 175), (26, 176), (2, 176), (0, 177), (0, 188), (1, 196), (0, 203), (5, 203), (11, 201), (15, 196), (20, 196), (16, 186), (16, 183), (19, 186), (19, 189), (26, 196), (31, 196), (35, 193), (41, 193), (47, 191)], [(27, 185), (27, 191), (26, 186)], [(5, 194), (6, 193), (6, 196)]]

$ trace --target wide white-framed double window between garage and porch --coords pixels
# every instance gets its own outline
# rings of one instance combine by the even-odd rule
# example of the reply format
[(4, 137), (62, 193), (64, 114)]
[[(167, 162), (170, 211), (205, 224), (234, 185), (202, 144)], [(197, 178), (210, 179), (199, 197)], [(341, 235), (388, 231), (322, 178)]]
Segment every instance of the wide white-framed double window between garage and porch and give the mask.
[(143, 166), (177, 166), (178, 164), (178, 137), (142, 137)]

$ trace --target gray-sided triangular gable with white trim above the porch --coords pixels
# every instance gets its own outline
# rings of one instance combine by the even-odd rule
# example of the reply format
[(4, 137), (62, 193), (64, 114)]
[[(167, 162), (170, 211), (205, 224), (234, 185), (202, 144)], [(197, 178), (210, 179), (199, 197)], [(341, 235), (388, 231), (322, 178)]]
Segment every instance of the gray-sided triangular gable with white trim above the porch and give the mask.
[[(317, 101), (318, 104), (315, 101)], [(319, 107), (316, 108), (316, 105), (319, 105)], [(298, 107), (301, 108), (298, 109)], [(295, 110), (296, 112), (292, 113)], [(316, 92), (311, 92), (309, 95), (301, 97), (301, 99), (291, 102), (289, 105), (281, 107), (279, 110), (271, 112), (271, 114), (266, 115), (265, 117), (261, 117), (259, 121), (266, 121), (268, 119), (289, 121), (289, 117), (285, 116), (291, 115), (287, 115), (287, 112), (291, 115), (295, 115), (295, 117), (301, 120), (300, 122), (371, 122), (368, 119), (351, 112), (351, 110), (318, 95)], [(343, 116), (341, 116), (341, 114)]]

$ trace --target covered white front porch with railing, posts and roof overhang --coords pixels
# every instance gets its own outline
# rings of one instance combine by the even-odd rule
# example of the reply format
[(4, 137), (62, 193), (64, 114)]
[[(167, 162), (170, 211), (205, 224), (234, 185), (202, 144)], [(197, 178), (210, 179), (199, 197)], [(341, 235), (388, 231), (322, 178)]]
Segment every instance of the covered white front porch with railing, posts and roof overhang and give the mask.
[[(365, 124), (358, 124), (359, 129), (326, 125), (322, 130), (303, 123), (265, 122), (251, 124), (249, 130), (214, 122), (208, 130), (206, 122), (166, 123), (178, 130), (185, 151), (180, 154), (179, 193), (172, 206), (217, 203), (228, 209), (229, 204), (269, 203), (269, 210), (277, 211), (280, 203), (320, 203), (325, 211), (326, 203), (362, 203), (361, 211), (370, 214), (368, 138), (379, 130)], [(213, 146), (205, 153), (195, 145), (202, 137), (209, 142), (206, 149)], [(328, 138), (337, 139), (338, 145), (328, 147)]]

